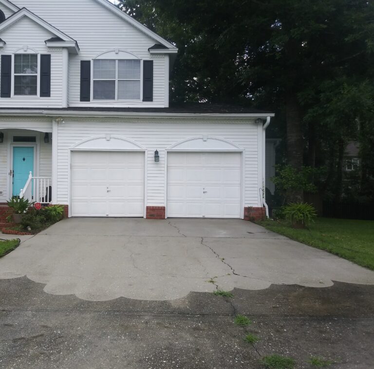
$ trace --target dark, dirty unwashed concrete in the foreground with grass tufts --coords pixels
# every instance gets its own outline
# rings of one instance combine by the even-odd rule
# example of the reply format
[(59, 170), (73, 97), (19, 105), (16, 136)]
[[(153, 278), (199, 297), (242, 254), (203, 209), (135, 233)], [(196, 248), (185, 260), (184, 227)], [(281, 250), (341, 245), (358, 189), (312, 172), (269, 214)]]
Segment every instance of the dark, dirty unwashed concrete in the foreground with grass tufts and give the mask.
[[(263, 369), (265, 355), (310, 356), (332, 369), (371, 369), (374, 286), (272, 285), (232, 298), (191, 292), (171, 301), (87, 301), (0, 280), (1, 369)], [(237, 313), (252, 324), (234, 324)], [(252, 333), (259, 342), (243, 338)]]

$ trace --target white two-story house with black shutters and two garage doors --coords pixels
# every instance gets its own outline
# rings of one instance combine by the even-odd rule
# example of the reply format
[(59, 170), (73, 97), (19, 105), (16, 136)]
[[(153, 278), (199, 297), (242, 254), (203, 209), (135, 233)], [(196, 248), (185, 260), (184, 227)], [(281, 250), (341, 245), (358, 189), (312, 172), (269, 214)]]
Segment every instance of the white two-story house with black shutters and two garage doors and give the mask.
[(272, 113), (169, 107), (177, 48), (107, 0), (0, 10), (1, 203), (23, 195), (69, 216), (263, 214)]

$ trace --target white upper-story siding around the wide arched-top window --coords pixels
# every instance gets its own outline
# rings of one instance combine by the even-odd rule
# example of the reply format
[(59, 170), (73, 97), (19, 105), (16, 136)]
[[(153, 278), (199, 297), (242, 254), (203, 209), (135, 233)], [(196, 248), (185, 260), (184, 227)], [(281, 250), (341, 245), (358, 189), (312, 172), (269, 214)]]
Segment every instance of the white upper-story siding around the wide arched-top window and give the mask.
[[(155, 43), (159, 43), (158, 41), (151, 39), (95, 0), (51, 0), (48, 2), (16, 0), (14, 3), (19, 7), (26, 6), (31, 12), (77, 40), (79, 55), (69, 55), (70, 106), (164, 107), (167, 105), (165, 101), (166, 81), (168, 81), (168, 71), (165, 70), (166, 58), (162, 55), (151, 56), (148, 51)], [(13, 32), (13, 29), (12, 27), (10, 30)], [(42, 40), (45, 39), (48, 38)], [(5, 40), (8, 42), (7, 39)], [(114, 102), (112, 100), (80, 101), (80, 61), (92, 60), (99, 54), (115, 48), (131, 52), (139, 59), (153, 59), (153, 101), (142, 102), (142, 98), (134, 101), (132, 100), (134, 94), (128, 92), (125, 94), (126, 99)], [(133, 90), (137, 88), (137, 84), (135, 86), (134, 83), (124, 84), (132, 84), (130, 88)], [(130, 97), (131, 100), (127, 101)]]

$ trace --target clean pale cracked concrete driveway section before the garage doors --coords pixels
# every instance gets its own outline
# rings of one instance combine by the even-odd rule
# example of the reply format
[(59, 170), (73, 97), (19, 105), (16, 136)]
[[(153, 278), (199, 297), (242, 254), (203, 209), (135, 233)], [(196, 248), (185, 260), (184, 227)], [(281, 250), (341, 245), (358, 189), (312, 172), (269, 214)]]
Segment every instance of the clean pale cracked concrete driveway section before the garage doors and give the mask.
[(90, 301), (270, 285), (374, 285), (374, 272), (242, 220), (70, 218), (0, 259), (0, 279)]

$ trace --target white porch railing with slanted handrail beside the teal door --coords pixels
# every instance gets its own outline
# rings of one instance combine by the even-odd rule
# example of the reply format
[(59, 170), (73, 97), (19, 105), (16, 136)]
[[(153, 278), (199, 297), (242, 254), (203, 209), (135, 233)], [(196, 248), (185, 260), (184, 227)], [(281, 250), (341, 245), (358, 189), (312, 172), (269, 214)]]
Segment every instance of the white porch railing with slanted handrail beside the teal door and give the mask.
[(33, 177), (30, 172), (29, 178), (19, 193), (20, 198), (27, 198), (29, 201), (42, 204), (52, 203), (52, 178)]

